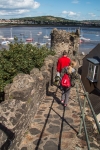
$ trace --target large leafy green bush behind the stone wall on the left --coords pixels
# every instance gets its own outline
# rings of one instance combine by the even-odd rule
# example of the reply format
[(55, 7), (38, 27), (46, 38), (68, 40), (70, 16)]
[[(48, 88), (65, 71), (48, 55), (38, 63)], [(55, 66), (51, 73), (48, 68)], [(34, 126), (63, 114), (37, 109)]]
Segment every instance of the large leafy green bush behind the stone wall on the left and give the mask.
[(0, 92), (6, 84), (11, 83), (18, 73), (29, 74), (35, 68), (41, 68), (44, 59), (55, 52), (47, 47), (35, 47), (32, 44), (15, 43), (9, 45), (9, 50), (0, 51)]

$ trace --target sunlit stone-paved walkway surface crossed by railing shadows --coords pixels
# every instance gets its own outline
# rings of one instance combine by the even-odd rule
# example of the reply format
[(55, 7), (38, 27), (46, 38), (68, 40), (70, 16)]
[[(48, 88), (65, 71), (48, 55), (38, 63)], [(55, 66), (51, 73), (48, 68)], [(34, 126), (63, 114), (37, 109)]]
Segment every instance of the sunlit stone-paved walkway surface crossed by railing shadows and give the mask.
[(51, 86), (23, 137), (20, 150), (87, 150), (85, 140), (77, 136), (80, 108), (76, 89), (71, 89), (67, 107), (60, 98), (61, 91)]

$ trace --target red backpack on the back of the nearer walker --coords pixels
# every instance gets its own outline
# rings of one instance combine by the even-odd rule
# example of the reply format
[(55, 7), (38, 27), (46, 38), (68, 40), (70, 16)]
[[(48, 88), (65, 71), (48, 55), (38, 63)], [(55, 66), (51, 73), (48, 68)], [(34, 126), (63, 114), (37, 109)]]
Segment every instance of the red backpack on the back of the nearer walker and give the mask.
[(70, 77), (69, 77), (68, 74), (65, 73), (65, 74), (63, 75), (63, 77), (62, 77), (62, 79), (61, 79), (61, 85), (62, 85), (63, 87), (66, 87), (66, 88), (68, 88), (68, 87), (71, 86)]

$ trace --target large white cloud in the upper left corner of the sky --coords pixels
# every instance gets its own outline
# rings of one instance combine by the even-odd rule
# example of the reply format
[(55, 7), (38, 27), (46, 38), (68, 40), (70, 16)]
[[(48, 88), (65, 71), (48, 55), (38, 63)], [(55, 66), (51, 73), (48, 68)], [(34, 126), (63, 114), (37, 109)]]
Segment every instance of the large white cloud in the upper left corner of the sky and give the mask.
[(40, 3), (35, 0), (2, 0), (0, 2), (0, 15), (3, 17), (26, 14), (39, 6)]

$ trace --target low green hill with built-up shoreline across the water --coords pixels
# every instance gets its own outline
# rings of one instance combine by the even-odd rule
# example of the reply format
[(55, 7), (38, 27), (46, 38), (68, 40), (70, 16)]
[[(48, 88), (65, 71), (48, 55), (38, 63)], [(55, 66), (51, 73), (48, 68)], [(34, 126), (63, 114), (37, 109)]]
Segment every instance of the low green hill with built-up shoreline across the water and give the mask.
[(2, 26), (78, 26), (78, 27), (100, 27), (100, 20), (70, 20), (55, 16), (37, 16), (13, 18), (10, 20), (3, 19), (0, 22)]

